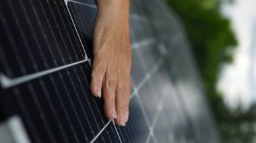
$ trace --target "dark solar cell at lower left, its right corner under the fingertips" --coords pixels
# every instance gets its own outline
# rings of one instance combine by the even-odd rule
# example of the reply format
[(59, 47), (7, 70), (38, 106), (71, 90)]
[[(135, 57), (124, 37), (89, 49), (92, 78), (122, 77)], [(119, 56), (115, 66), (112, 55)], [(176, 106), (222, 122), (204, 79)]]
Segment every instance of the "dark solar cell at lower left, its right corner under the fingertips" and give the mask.
[[(85, 72), (88, 66), (88, 63), (80, 64), (9, 89), (3, 95), (15, 103), (9, 105), (5, 99), (3, 107), (9, 105), (5, 110), (12, 108), (13, 114), (19, 113), (15, 109), (27, 113), (22, 119), (34, 140), (63, 142), (67, 136), (69, 142), (88, 142), (108, 122), (100, 99), (92, 97), (88, 89), (90, 75), (89, 71)], [(33, 135), (36, 134), (33, 130), (39, 133)]]

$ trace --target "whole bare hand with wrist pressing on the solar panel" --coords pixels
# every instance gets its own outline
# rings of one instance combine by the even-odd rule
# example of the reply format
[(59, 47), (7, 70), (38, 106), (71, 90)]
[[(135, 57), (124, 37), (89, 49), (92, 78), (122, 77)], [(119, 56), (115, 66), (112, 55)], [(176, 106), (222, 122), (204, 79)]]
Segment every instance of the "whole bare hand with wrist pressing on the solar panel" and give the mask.
[(129, 1), (98, 0), (94, 27), (94, 60), (91, 91), (103, 92), (104, 113), (125, 126), (129, 116), (131, 92), (131, 48), (129, 42)]

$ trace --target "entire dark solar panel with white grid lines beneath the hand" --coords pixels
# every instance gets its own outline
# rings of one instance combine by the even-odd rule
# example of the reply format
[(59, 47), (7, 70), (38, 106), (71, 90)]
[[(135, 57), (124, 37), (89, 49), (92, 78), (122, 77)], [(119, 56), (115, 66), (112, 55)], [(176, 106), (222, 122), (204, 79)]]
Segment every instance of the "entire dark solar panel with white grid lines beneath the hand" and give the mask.
[(104, 116), (89, 88), (96, 14), (93, 0), (0, 1), (1, 119), (13, 138), (218, 142), (181, 23), (158, 0), (131, 0), (129, 122)]

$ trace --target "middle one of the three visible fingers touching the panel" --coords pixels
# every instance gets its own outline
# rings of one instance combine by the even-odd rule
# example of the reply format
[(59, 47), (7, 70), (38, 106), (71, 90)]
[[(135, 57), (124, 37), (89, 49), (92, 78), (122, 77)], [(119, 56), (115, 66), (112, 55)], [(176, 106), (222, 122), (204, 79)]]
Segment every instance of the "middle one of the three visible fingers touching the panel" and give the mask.
[(117, 87), (117, 70), (108, 68), (103, 82), (104, 112), (110, 119), (117, 118), (115, 107), (115, 90)]

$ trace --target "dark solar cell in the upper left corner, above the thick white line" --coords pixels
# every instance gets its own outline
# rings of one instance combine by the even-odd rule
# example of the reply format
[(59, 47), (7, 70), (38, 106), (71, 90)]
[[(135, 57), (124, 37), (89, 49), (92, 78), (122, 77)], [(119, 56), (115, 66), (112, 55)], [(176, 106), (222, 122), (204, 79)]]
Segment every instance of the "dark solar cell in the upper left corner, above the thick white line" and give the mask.
[(15, 55), (5, 56), (9, 78), (84, 60), (63, 1), (1, 1), (0, 15), (1, 51)]

